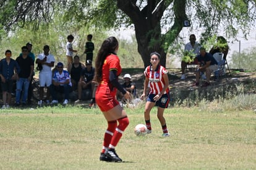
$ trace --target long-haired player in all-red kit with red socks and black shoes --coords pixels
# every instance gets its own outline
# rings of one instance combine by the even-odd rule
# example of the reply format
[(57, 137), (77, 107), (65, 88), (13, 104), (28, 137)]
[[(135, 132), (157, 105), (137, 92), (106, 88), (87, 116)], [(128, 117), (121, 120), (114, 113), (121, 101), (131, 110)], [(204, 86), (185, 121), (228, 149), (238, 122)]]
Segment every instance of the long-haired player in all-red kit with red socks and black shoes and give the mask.
[(114, 36), (109, 37), (103, 41), (95, 61), (96, 74), (94, 79), (98, 83), (95, 99), (106, 121), (108, 121), (100, 161), (122, 161), (116, 154), (115, 147), (129, 125), (126, 111), (115, 98), (117, 89), (124, 94), (124, 98), (130, 98), (130, 93), (122, 88), (118, 82), (118, 76), (122, 71), (119, 57), (116, 55), (118, 47), (116, 38)]

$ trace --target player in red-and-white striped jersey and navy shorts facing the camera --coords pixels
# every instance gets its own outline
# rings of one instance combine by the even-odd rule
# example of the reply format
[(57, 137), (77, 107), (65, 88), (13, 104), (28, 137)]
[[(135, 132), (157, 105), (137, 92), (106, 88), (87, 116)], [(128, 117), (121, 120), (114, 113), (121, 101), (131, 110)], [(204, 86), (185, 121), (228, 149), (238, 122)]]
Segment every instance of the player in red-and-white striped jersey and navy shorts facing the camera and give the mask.
[[(168, 70), (159, 64), (160, 54), (154, 52), (150, 54), (150, 66), (144, 71), (145, 83), (143, 94), (140, 98), (143, 100), (146, 96), (147, 88), (150, 87), (150, 92), (145, 105), (144, 118), (148, 129), (148, 134), (151, 133), (150, 111), (153, 106), (158, 106), (157, 117), (163, 129), (163, 137), (169, 137), (169, 132), (166, 127), (166, 121), (163, 117), (164, 109), (168, 108), (169, 104), (169, 80)], [(149, 83), (149, 84), (148, 84)]]

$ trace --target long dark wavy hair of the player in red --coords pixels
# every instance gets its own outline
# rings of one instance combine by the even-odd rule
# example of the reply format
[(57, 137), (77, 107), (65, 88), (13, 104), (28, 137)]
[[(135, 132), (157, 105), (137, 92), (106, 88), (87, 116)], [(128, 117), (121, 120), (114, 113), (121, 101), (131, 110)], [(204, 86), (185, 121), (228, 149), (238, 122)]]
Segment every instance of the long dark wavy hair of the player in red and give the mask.
[(98, 83), (101, 82), (102, 67), (103, 67), (104, 61), (109, 54), (114, 53), (117, 46), (118, 46), (118, 41), (114, 36), (110, 36), (109, 38), (103, 41), (95, 61), (95, 71), (96, 71), (95, 77), (94, 77), (95, 82), (98, 82)]

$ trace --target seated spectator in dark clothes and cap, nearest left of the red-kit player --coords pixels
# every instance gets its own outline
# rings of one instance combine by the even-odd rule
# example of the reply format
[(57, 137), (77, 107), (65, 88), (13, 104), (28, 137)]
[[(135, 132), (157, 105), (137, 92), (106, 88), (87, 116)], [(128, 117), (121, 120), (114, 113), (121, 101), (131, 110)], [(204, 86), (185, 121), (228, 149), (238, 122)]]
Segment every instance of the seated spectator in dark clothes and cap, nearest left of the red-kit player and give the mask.
[[(85, 64), (85, 69), (81, 72), (81, 77), (78, 83), (78, 100), (75, 103), (79, 103), (82, 100), (82, 90), (89, 89), (91, 90), (91, 94), (93, 92), (94, 84), (93, 77), (95, 74), (95, 69), (92, 67), (92, 60), (87, 60)], [(95, 98), (93, 99), (95, 103)]]

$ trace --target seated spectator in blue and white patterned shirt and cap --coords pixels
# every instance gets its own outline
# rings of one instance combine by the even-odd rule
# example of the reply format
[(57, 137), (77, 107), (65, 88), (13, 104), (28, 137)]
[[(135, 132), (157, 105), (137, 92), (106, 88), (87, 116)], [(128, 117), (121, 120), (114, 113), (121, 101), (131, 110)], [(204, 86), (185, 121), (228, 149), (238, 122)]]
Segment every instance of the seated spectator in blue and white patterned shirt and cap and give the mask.
[(51, 104), (58, 104), (59, 101), (57, 99), (56, 92), (64, 93), (64, 102), (63, 104), (69, 103), (69, 93), (72, 90), (72, 83), (70, 81), (69, 72), (63, 70), (62, 62), (58, 62), (57, 70), (53, 73), (53, 80), (50, 85), (50, 93), (53, 101)]

